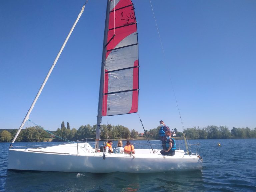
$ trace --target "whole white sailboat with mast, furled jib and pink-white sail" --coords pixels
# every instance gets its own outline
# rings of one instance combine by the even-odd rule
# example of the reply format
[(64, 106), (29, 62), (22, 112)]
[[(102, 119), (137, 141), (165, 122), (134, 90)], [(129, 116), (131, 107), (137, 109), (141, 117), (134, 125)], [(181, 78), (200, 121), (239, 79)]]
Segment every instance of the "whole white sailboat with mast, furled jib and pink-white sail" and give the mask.
[[(83, 10), (84, 6), (78, 19)], [(61, 51), (10, 145), (9, 170), (155, 173), (202, 169), (202, 158), (197, 152), (191, 153), (189, 150), (176, 150), (174, 156), (162, 155), (159, 150), (153, 148), (152, 150), (136, 149), (135, 154), (106, 153), (99, 150), (103, 116), (138, 112), (138, 33), (134, 5), (131, 0), (108, 0), (107, 2), (95, 148), (87, 142), (70, 142), (42, 148), (13, 147)]]

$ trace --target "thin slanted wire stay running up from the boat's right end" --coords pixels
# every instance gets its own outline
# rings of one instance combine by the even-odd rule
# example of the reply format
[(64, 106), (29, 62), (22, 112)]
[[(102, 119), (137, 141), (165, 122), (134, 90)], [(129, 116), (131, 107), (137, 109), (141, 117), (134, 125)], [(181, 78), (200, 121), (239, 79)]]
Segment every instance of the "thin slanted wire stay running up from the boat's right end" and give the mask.
[(175, 101), (176, 101), (176, 105), (177, 105), (177, 109), (178, 109), (178, 112), (179, 112), (179, 115), (180, 115), (180, 121), (181, 121), (182, 129), (183, 129), (183, 132), (184, 132), (185, 144), (186, 144), (186, 148), (187, 148), (187, 151), (188, 151), (188, 147), (187, 147), (187, 143), (186, 143), (188, 141), (187, 141), (187, 137), (185, 136), (186, 134), (185, 134), (184, 125), (183, 125), (183, 121), (182, 121), (181, 114), (180, 114), (179, 105), (178, 105), (177, 98), (176, 98), (176, 95), (175, 95), (175, 91), (174, 91), (174, 88), (173, 88), (169, 67), (168, 67), (167, 62), (166, 62), (165, 52), (164, 52), (162, 40), (161, 40), (161, 37), (160, 37), (160, 32), (159, 32), (159, 29), (158, 29), (158, 26), (157, 26), (157, 22), (156, 22), (156, 17), (155, 17), (155, 14), (154, 14), (153, 6), (152, 6), (152, 3), (151, 3), (151, 0), (149, 0), (149, 1), (150, 1), (150, 5), (151, 5), (153, 16), (154, 16), (154, 19), (155, 19), (156, 29), (157, 29), (158, 37), (159, 37), (159, 40), (160, 40), (161, 48), (162, 48), (163, 55), (164, 55), (164, 63), (166, 65), (166, 68), (167, 68), (167, 71), (168, 71), (168, 76), (169, 76), (169, 79), (170, 79), (170, 82), (171, 82), (171, 87), (172, 87), (173, 95), (174, 95), (174, 98), (175, 98)]

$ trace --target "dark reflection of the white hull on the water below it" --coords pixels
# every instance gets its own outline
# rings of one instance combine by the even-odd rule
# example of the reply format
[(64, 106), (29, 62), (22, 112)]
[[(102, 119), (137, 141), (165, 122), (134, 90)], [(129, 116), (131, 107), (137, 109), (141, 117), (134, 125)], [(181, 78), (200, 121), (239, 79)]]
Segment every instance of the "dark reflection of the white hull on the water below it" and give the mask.
[[(63, 173), (7, 171), (6, 192), (27, 191), (204, 191), (201, 171), (163, 173)], [(14, 182), (15, 181), (15, 182)], [(64, 181), (64, 182), (63, 182)], [(189, 182), (188, 182), (189, 181)], [(28, 184), (29, 183), (29, 184)], [(197, 184), (197, 185), (195, 185)], [(199, 187), (200, 186), (200, 187)], [(199, 190), (201, 189), (201, 190)], [(206, 190), (206, 189), (205, 189)]]

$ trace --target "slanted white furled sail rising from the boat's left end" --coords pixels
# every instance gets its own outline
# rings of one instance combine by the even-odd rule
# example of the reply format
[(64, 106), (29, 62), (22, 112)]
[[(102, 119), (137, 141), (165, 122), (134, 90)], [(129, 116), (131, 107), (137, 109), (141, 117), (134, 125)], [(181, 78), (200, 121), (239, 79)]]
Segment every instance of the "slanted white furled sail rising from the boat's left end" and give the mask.
[(56, 58), (55, 58), (55, 60), (54, 60), (54, 62), (53, 62), (53, 64), (52, 64), (50, 70), (48, 71), (48, 73), (47, 73), (47, 75), (46, 75), (46, 77), (45, 77), (45, 79), (44, 79), (43, 84), (41, 85), (41, 87), (40, 87), (40, 89), (39, 89), (39, 91), (38, 91), (38, 93), (37, 93), (37, 95), (36, 95), (36, 97), (35, 97), (33, 103), (31, 104), (31, 106), (30, 106), (30, 108), (29, 108), (29, 110), (28, 110), (28, 112), (27, 112), (25, 118), (23, 119), (23, 121), (22, 121), (22, 123), (21, 123), (21, 125), (20, 125), (20, 127), (19, 127), (19, 129), (18, 129), (18, 131), (17, 131), (17, 133), (16, 133), (16, 135), (15, 135), (15, 137), (13, 138), (9, 149), (12, 147), (12, 144), (15, 142), (16, 138), (18, 137), (18, 135), (19, 135), (21, 129), (23, 128), (25, 122), (28, 120), (29, 115), (30, 115), (32, 109), (34, 108), (34, 105), (36, 104), (36, 101), (37, 101), (38, 97), (40, 96), (40, 94), (41, 94), (41, 92), (42, 92), (42, 90), (43, 90), (43, 88), (44, 88), (44, 86), (45, 86), (45, 84), (46, 84), (46, 82), (47, 82), (47, 80), (48, 80), (48, 78), (49, 78), (49, 76), (50, 76), (50, 74), (51, 74), (51, 72), (52, 72), (54, 66), (55, 66), (55, 64), (57, 63), (57, 61), (58, 61), (58, 59), (59, 59), (59, 57), (60, 57), (60, 54), (62, 53), (62, 51), (63, 51), (63, 49), (64, 49), (64, 47), (65, 47), (65, 45), (66, 45), (66, 43), (67, 43), (67, 41), (68, 41), (68, 39), (69, 39), (71, 33), (73, 32), (73, 30), (74, 30), (74, 28), (75, 28), (75, 26), (76, 26), (76, 24), (77, 24), (77, 22), (78, 22), (78, 20), (80, 19), (82, 13), (84, 12), (84, 7), (85, 7), (86, 3), (87, 3), (87, 1), (86, 1), (85, 4), (83, 5), (82, 10), (80, 11), (80, 13), (79, 13), (79, 15), (78, 15), (78, 17), (77, 17), (75, 23), (73, 24), (71, 30), (69, 31), (69, 34), (68, 34), (68, 36), (66, 37), (66, 40), (64, 41), (64, 43), (63, 43), (63, 45), (62, 45), (62, 47), (61, 47), (61, 49), (60, 49), (58, 55), (56, 56)]

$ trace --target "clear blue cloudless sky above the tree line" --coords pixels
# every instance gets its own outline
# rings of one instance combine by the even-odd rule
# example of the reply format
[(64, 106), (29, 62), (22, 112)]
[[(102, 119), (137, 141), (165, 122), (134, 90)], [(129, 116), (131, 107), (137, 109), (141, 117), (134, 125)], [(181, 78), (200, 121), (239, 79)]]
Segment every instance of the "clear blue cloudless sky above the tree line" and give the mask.
[[(17, 129), (84, 0), (0, 1), (0, 128)], [(139, 115), (185, 128), (256, 127), (256, 1), (134, 0)], [(30, 119), (47, 130), (96, 124), (106, 1), (89, 0)], [(138, 114), (103, 124), (143, 132)], [(24, 127), (33, 126), (26, 123)]]

